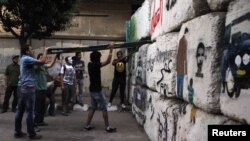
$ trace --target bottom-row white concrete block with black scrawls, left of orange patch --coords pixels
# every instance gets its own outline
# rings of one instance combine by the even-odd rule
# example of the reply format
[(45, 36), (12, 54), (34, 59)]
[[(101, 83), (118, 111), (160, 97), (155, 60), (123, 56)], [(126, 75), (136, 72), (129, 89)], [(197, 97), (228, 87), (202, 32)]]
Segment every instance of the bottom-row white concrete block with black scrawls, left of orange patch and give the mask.
[(148, 93), (145, 132), (152, 141), (175, 140), (179, 107), (181, 102), (174, 99), (162, 99), (155, 92)]

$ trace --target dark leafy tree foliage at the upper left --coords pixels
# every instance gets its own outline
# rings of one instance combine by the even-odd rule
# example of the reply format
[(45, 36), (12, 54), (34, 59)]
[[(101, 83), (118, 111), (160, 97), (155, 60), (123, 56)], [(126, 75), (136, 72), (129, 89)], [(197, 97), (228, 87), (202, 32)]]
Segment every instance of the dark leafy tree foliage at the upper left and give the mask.
[(21, 46), (29, 38), (42, 39), (69, 26), (77, 0), (8, 0), (0, 3), (0, 20)]

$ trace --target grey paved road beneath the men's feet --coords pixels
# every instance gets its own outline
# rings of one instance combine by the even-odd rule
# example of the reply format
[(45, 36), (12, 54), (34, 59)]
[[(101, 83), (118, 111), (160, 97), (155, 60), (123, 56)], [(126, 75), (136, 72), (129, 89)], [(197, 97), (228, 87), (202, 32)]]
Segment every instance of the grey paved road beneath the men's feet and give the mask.
[[(28, 137), (15, 139), (14, 133), (15, 114), (7, 112), (0, 114), (0, 141), (23, 141)], [(26, 115), (23, 119), (23, 131), (26, 132)], [(92, 124), (92, 131), (83, 130), (87, 112), (73, 111), (65, 117), (57, 111), (55, 117), (46, 117), (49, 126), (41, 127), (39, 134), (43, 135), (41, 141), (150, 141), (142, 127), (140, 127), (130, 112), (109, 112), (110, 125), (117, 128), (116, 133), (106, 133), (102, 114), (97, 111)]]

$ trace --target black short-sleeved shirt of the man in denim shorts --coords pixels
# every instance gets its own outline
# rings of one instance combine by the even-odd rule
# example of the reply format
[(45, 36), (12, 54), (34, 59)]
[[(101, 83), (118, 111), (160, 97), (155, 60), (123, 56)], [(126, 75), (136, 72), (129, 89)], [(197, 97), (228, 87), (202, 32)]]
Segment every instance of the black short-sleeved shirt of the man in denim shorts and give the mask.
[(100, 62), (89, 62), (88, 72), (90, 79), (90, 92), (100, 92), (102, 90), (101, 85), (101, 63)]

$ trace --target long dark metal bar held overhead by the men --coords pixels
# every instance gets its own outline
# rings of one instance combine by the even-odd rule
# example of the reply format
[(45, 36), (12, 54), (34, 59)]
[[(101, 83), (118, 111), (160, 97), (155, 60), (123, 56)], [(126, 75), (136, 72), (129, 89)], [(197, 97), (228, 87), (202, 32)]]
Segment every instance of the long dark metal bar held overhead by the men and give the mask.
[[(124, 42), (124, 43), (115, 43), (114, 49), (118, 48), (135, 48), (140, 47), (144, 44), (151, 44), (154, 41), (151, 40), (142, 40), (138, 42)], [(107, 50), (109, 44), (104, 45), (95, 45), (95, 46), (86, 46), (86, 47), (55, 47), (49, 48), (48, 54), (59, 54), (59, 53), (73, 53), (73, 52), (88, 52), (88, 51), (95, 51), (95, 50)]]

